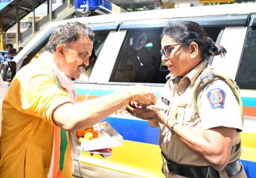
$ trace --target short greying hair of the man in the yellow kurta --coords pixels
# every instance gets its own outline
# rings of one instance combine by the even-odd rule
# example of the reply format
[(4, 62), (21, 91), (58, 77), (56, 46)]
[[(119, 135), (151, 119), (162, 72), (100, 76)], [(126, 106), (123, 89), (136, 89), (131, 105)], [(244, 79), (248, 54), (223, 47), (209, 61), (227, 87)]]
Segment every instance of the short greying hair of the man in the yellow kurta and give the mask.
[(94, 32), (86, 25), (75, 22), (67, 22), (66, 24), (57, 27), (55, 32), (51, 34), (49, 42), (47, 43), (47, 50), (53, 53), (56, 52), (57, 46), (63, 44), (69, 48), (70, 42), (79, 40), (80, 36), (86, 36), (91, 41), (94, 41)]

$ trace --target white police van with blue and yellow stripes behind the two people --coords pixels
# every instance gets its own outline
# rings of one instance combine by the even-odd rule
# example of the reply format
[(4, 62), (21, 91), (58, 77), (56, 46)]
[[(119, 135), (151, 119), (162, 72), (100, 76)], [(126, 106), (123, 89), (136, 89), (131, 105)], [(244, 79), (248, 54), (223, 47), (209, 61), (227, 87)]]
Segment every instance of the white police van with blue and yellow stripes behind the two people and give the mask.
[[(247, 177), (255, 177), (256, 3), (158, 9), (56, 21), (19, 52), (11, 61), (15, 64), (9, 65), (15, 69), (10, 71), (18, 72), (36, 54), (43, 52), (59, 24), (79, 21), (96, 34), (93, 47), (97, 60), (88, 80), (74, 81), (77, 101), (102, 97), (137, 84), (152, 87), (159, 97), (168, 74), (161, 62), (160, 34), (171, 21), (184, 20), (201, 24), (208, 36), (228, 51), (224, 58), (216, 56), (208, 61), (218, 73), (236, 81), (241, 89), (245, 115), (241, 161)], [(127, 59), (129, 53), (133, 57)], [(131, 116), (123, 108), (104, 122), (123, 136), (123, 146), (113, 147), (113, 157), (108, 159), (80, 152), (73, 177), (164, 177), (158, 128), (151, 128), (148, 122)]]

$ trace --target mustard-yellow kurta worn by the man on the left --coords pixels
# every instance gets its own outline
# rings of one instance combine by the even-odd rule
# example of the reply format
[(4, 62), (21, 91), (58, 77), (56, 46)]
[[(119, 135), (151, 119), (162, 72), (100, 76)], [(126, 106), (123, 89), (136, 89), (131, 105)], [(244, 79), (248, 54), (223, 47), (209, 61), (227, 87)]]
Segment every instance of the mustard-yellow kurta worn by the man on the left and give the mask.
[[(15, 76), (3, 101), (0, 139), (0, 177), (46, 177), (53, 150), (53, 110), (73, 101), (59, 89), (49, 64), (24, 66)], [(69, 136), (63, 169), (71, 176)]]

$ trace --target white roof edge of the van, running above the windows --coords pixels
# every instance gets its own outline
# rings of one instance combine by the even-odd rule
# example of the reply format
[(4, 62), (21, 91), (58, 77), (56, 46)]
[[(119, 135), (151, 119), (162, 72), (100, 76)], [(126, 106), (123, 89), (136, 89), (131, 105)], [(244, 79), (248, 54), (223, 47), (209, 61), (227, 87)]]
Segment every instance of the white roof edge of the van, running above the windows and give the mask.
[[(187, 17), (187, 20), (193, 20), (195, 17), (216, 17), (222, 15), (249, 15), (251, 13), (256, 13), (256, 3), (237, 3), (237, 4), (228, 4), (228, 5), (207, 5), (207, 6), (198, 6), (198, 7), (183, 7), (175, 9), (156, 9), (150, 11), (135, 11), (127, 13), (115, 13), (107, 15), (96, 15), (90, 17), (77, 17), (73, 19), (64, 19), (61, 21), (55, 21), (49, 26), (46, 26), (42, 31), (40, 31), (35, 38), (33, 38), (24, 49), (14, 58), (17, 63), (17, 71), (21, 66), (21, 58), (27, 54), (30, 49), (34, 48), (38, 42), (44, 40), (44, 36), (51, 34), (55, 27), (60, 24), (65, 24), (67, 21), (79, 21), (82, 24), (94, 24), (102, 28), (106, 26), (106, 29), (113, 23), (113, 26), (117, 26), (122, 23), (121, 30), (125, 30), (125, 23), (127, 26), (130, 26), (129, 22), (141, 21), (141, 20), (150, 20), (152, 23), (159, 21), (160, 19), (179, 19)], [(224, 19), (229, 20), (229, 19)], [(205, 18), (205, 23), (208, 23), (210, 19)], [(104, 24), (105, 23), (105, 24)], [(108, 24), (106, 24), (108, 23)]]

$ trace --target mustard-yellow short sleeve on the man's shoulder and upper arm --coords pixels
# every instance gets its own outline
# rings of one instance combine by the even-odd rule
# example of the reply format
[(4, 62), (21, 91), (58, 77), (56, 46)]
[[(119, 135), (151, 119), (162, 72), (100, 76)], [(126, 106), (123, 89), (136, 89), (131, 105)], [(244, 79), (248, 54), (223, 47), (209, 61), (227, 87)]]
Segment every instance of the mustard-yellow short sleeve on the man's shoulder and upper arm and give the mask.
[(7, 98), (19, 112), (54, 124), (53, 110), (73, 101), (67, 92), (59, 89), (51, 69), (37, 68), (25, 66), (11, 82)]

